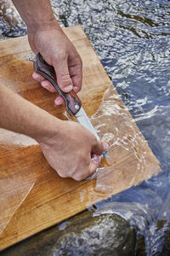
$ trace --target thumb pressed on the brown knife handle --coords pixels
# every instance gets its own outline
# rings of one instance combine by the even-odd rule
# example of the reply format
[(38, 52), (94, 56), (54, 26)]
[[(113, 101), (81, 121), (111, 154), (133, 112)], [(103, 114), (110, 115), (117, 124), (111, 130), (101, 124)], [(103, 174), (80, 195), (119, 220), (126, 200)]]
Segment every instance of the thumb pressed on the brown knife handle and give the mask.
[(73, 89), (73, 84), (69, 73), (67, 60), (54, 63), (54, 70), (59, 88), (64, 92), (71, 91)]

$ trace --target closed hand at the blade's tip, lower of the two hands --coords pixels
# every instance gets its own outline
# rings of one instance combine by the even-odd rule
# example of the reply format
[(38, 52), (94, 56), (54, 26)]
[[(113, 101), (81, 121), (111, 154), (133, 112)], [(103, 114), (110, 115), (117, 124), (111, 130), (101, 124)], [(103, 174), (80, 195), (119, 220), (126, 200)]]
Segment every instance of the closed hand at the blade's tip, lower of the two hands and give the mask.
[(60, 121), (57, 131), (54, 137), (38, 141), (48, 164), (60, 177), (80, 181), (92, 176), (109, 145), (97, 141), (94, 134), (76, 122)]

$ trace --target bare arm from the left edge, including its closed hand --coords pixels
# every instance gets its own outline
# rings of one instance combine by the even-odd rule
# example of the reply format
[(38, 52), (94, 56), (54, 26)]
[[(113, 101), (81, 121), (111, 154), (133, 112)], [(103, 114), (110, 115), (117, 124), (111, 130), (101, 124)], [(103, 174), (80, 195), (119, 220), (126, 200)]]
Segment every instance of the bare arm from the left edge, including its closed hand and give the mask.
[[(82, 180), (91, 176), (99, 166), (99, 154), (107, 149), (82, 125), (55, 118), (3, 84), (0, 84), (0, 127), (36, 139), (60, 177)], [(94, 160), (92, 153), (97, 154)]]

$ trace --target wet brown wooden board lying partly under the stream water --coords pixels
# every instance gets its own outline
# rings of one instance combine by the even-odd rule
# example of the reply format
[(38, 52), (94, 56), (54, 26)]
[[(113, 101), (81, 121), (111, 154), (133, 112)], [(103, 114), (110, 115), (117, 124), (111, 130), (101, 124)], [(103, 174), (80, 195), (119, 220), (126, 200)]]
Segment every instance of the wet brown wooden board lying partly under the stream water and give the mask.
[[(33, 139), (0, 129), (0, 250), (161, 171), (82, 27), (64, 32), (82, 56), (79, 96), (99, 137), (111, 144), (110, 159), (93, 180), (61, 178)], [(0, 42), (0, 81), (59, 119), (68, 119), (64, 107), (54, 106), (55, 95), (31, 78), (31, 54), (26, 37)]]

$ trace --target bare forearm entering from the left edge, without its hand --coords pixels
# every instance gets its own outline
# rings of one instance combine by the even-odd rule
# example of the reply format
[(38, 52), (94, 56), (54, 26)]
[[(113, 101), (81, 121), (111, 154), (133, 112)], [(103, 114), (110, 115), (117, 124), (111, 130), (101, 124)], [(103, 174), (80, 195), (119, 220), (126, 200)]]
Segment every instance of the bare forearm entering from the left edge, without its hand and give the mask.
[(62, 121), (0, 84), (0, 127), (39, 141), (56, 135)]

